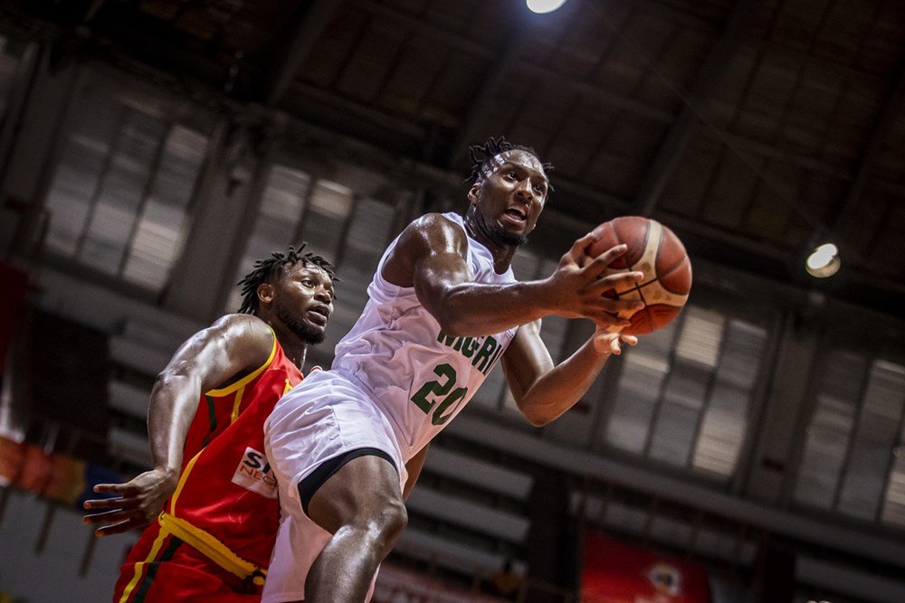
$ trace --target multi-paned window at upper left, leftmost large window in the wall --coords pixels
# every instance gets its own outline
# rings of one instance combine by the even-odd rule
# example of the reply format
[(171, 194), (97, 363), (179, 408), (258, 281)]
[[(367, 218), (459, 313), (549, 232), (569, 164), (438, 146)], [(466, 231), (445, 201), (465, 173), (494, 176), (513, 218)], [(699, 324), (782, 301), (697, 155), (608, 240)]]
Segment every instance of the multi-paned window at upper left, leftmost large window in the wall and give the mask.
[(208, 137), (114, 97), (84, 94), (46, 207), (47, 247), (160, 291), (186, 234)]

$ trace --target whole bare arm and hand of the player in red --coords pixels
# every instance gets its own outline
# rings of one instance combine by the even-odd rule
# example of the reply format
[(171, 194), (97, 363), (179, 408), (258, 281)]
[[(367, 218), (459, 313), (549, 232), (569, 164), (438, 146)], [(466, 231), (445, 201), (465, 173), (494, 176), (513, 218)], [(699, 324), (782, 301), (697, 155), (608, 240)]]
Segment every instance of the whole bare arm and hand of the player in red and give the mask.
[(224, 316), (182, 344), (154, 383), (148, 407), (148, 441), (154, 468), (125, 484), (94, 491), (119, 495), (86, 501), (84, 523), (101, 524), (98, 536), (141, 528), (176, 490), (188, 427), (204, 391), (261, 366), (270, 356), (271, 330), (248, 315)]

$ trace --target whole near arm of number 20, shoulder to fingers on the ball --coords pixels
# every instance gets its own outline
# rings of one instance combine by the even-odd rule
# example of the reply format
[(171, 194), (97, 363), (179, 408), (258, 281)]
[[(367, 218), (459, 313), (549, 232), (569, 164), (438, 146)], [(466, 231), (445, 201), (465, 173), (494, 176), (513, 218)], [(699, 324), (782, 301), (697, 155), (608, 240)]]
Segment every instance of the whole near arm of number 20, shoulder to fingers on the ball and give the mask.
[(592, 234), (576, 240), (548, 278), (491, 285), (472, 282), (462, 229), (439, 214), (428, 214), (405, 229), (387, 259), (383, 276), (401, 287), (414, 287), (419, 301), (450, 335), (482, 335), (525, 325), (543, 316), (585, 317), (597, 325), (627, 325), (614, 316), (639, 302), (603, 297), (640, 273), (598, 278), (625, 251), (614, 247), (588, 258)]

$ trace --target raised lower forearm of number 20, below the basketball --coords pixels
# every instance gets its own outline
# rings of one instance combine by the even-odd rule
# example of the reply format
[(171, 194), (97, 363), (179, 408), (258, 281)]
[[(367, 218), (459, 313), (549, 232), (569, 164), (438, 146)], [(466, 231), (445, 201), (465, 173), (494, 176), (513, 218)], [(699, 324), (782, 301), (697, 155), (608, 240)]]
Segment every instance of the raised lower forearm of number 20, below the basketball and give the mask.
[(518, 401), (529, 422), (541, 427), (575, 406), (604, 368), (609, 354), (595, 351), (592, 340), (539, 377)]

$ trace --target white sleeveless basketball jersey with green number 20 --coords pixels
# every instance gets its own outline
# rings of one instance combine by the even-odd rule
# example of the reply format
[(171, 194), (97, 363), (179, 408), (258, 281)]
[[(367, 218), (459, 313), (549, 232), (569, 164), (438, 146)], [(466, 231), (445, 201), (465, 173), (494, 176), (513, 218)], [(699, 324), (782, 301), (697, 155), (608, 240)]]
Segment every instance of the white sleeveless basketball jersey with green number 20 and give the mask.
[[(444, 213), (465, 231), (462, 216)], [(512, 269), (497, 274), (491, 251), (468, 236), (468, 265), (477, 283), (512, 283)], [(390, 243), (367, 287), (368, 301), (352, 330), (337, 344), (333, 370), (350, 375), (373, 395), (390, 420), (405, 459), (449, 423), (491, 372), (518, 327), (493, 335), (453, 337), (414, 293), (382, 272)], [(407, 448), (407, 449), (406, 449)]]

